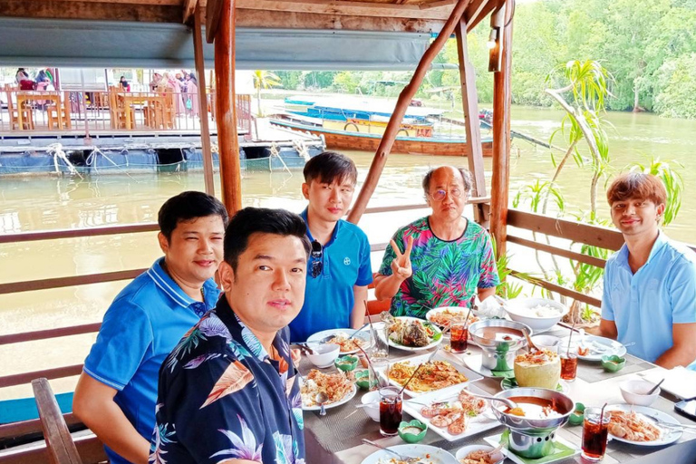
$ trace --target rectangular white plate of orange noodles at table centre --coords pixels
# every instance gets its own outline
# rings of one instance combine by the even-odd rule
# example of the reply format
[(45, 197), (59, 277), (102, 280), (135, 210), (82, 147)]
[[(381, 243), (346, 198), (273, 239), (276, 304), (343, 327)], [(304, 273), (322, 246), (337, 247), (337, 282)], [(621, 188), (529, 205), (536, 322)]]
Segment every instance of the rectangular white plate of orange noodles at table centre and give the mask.
[[(429, 357), (430, 354), (423, 354), (391, 363), (389, 365), (389, 382), (394, 386), (402, 387), (404, 383), (408, 382), (411, 374), (419, 364), (427, 362)], [(404, 392), (409, 396), (418, 396), (428, 391), (440, 390), (452, 385), (459, 385), (463, 388), (469, 382), (475, 382), (480, 379), (483, 379), (483, 377), (478, 373), (458, 363), (450, 362), (448, 358), (438, 353), (431, 362), (420, 368), (416, 376), (404, 389)]]

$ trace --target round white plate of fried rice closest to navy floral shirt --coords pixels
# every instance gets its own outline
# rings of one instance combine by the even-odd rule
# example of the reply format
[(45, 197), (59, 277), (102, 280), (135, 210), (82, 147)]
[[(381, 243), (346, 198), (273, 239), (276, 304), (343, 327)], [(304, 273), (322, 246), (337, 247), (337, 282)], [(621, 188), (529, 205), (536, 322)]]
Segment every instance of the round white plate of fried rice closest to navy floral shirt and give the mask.
[(324, 408), (328, 410), (351, 401), (356, 392), (355, 383), (340, 371), (324, 373), (313, 369), (304, 378), (300, 378), (303, 411), (319, 411), (321, 409), (321, 406), (314, 400), (316, 393), (328, 395), (328, 401), (324, 402)]

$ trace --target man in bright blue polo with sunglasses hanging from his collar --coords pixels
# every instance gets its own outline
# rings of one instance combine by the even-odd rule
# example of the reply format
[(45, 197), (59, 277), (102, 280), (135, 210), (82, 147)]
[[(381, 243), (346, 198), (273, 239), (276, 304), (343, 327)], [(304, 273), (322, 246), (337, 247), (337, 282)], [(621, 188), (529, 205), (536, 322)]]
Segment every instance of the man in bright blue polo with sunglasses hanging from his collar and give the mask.
[(353, 201), (358, 169), (340, 153), (324, 151), (304, 165), (300, 215), (312, 243), (304, 305), (290, 324), (290, 340), (304, 342), (326, 329), (359, 328), (372, 282), (370, 243), (360, 227), (342, 219)]

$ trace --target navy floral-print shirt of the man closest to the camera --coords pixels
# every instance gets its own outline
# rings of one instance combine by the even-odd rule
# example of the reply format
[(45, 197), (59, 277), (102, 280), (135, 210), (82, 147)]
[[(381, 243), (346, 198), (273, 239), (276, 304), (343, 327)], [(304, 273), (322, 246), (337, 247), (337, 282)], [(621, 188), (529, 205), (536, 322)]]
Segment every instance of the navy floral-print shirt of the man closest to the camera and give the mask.
[(271, 359), (220, 298), (160, 371), (150, 464), (305, 464), (302, 399), (288, 333), (276, 334), (281, 359)]

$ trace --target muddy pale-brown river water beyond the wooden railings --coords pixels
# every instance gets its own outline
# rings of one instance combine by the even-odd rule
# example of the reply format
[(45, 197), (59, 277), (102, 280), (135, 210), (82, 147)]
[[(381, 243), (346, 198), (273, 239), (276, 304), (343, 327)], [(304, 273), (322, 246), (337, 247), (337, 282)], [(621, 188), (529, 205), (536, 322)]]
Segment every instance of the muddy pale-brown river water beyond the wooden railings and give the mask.
[[(513, 129), (548, 140), (559, 125), (561, 111), (514, 108)], [(696, 203), (689, 186), (696, 185), (696, 167), (690, 157), (696, 152), (696, 121), (661, 119), (651, 114), (611, 113), (610, 150), (614, 169), (622, 170), (633, 161), (647, 162), (651, 156), (677, 160), (684, 166), (681, 176), (687, 186), (681, 212), (668, 227), (671, 237), (696, 241), (690, 236), (696, 227)], [(485, 133), (484, 133), (485, 136)], [(563, 145), (560, 139), (556, 145)], [(372, 153), (346, 152), (358, 166), (359, 183), (367, 175)], [(558, 155), (556, 155), (558, 156)], [(420, 180), (433, 166), (453, 163), (447, 157), (393, 155), (382, 174), (371, 207), (415, 204), (423, 201)], [(490, 160), (485, 160), (487, 179)], [(535, 179), (550, 179), (553, 165), (549, 151), (515, 140), (510, 179), (511, 197), (517, 189)], [(591, 174), (572, 162), (559, 183), (566, 210), (589, 209)], [(218, 176), (216, 176), (219, 182)], [(245, 206), (286, 208), (301, 211), (302, 174), (246, 172), (242, 180)], [(489, 182), (489, 180), (488, 180)], [(203, 189), (201, 173), (160, 173), (107, 175), (91, 179), (14, 178), (0, 179), (0, 233), (97, 227), (115, 224), (154, 222), (167, 198), (187, 189)], [(216, 185), (219, 193), (219, 185)], [(598, 194), (600, 215), (606, 218), (604, 185)], [(386, 242), (401, 225), (427, 214), (427, 210), (367, 215), (361, 226), (372, 243)], [(154, 233), (125, 236), (72, 238), (43, 242), (0, 245), (0, 282), (16, 282), (67, 275), (148, 267), (160, 256)], [(372, 266), (382, 254), (372, 256)], [(32, 293), (0, 295), (0, 334), (42, 330), (74, 324), (99, 322), (123, 282), (83, 285)], [(11, 374), (47, 369), (83, 361), (94, 334), (45, 342), (18, 343), (0, 347), (0, 372)], [(52, 382), (56, 391), (73, 388), (75, 379)], [(0, 399), (31, 396), (29, 387), (0, 390)]]

